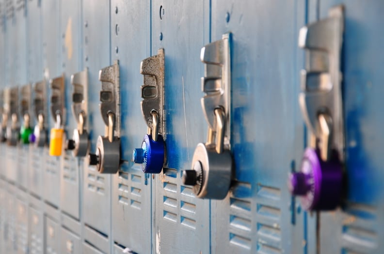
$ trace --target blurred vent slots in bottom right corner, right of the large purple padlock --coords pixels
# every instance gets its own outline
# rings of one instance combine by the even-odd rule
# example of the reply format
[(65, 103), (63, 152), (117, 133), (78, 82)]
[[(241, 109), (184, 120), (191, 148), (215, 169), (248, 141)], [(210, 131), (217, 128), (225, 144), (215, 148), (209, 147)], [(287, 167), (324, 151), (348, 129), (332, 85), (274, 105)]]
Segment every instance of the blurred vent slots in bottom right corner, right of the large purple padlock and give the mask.
[(377, 223), (377, 210), (365, 205), (350, 204), (348, 212), (342, 222), (341, 253), (376, 253), (378, 236), (373, 228)]

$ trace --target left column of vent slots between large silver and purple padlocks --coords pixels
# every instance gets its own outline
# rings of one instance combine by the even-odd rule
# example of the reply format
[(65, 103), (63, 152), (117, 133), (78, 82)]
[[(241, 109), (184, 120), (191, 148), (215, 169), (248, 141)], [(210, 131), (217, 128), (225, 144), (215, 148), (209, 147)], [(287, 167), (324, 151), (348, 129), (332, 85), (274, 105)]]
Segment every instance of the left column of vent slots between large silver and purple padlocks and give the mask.
[(246, 250), (252, 246), (251, 184), (237, 182), (229, 198), (229, 242)]

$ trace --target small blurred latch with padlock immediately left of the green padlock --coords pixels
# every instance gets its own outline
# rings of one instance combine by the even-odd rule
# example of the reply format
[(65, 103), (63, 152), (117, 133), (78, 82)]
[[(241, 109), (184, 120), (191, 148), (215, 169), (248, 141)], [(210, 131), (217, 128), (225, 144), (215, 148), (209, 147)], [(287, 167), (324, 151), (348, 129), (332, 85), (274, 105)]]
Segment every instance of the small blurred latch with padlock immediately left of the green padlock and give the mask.
[(18, 88), (10, 88), (8, 90), (8, 105), (11, 117), (11, 125), (7, 127), (7, 144), (8, 146), (16, 146), (19, 139), (20, 125), (18, 120)]

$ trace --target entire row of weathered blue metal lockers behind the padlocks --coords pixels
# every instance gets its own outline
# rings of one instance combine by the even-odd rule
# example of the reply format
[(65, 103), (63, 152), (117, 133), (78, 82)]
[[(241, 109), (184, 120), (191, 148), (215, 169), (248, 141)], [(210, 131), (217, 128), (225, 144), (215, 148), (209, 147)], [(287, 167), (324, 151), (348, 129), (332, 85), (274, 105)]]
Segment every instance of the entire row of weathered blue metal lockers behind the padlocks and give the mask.
[[(340, 3), (336, 10), (343, 14), (336, 18), (338, 30), (332, 22), (326, 30), (308, 25), (337, 16), (332, 10)], [(73, 156), (64, 149), (64, 142), (53, 152), (48, 140), (43, 147), (0, 144), (0, 252), (380, 253), (384, 244), (380, 187), (384, 178), (380, 155), (384, 37), (378, 30), (383, 11), (379, 0), (0, 1), (0, 90), (4, 95), (17, 88), (19, 94), (19, 103), (5, 100), (8, 107), (18, 105), (19, 114), (24, 93), (18, 89), (31, 84), (31, 126), (38, 124), (32, 112), (34, 89), (45, 84), (46, 131), (63, 128), (63, 141), (69, 140), (79, 126), (71, 109), (79, 101), (71, 76), (76, 79), (85, 72), (88, 89), (80, 101), (86, 101), (93, 155)], [(313, 41), (300, 40), (302, 34)], [(338, 51), (324, 50), (316, 45), (320, 41), (334, 43), (330, 45)], [(226, 46), (227, 65), (228, 56), (221, 54)], [(316, 50), (322, 53), (313, 53)], [(145, 93), (141, 86), (145, 82), (148, 87), (159, 85), (161, 75), (152, 75), (153, 70), (148, 75), (145, 61), (140, 63), (162, 53), (164, 103), (157, 113), (166, 160), (159, 174), (149, 174), (132, 162), (132, 149), (142, 146), (155, 121), (143, 117), (141, 102), (153, 91)], [(332, 69), (334, 59), (339, 60), (336, 71), (340, 73)], [(219, 63), (220, 68), (210, 63)], [(230, 66), (229, 71), (225, 66)], [(318, 75), (324, 68), (329, 76)], [(306, 211), (311, 206), (291, 194), (301, 191), (292, 181), (287, 185), (290, 173), (303, 170), (304, 149), (313, 146), (314, 129), (308, 121), (304, 123), (298, 97), (317, 88), (303, 90), (302, 69), (307, 70), (308, 84), (319, 82), (327, 90), (330, 80), (340, 89), (341, 107), (336, 105), (331, 116), (341, 126), (336, 136), (342, 141), (335, 141), (332, 149), (338, 152), (342, 166), (337, 172), (343, 176), (338, 175), (337, 188), (328, 188), (331, 194), (320, 198), (332, 204), (332, 211)], [(103, 79), (106, 76), (100, 70), (109, 74), (115, 70), (114, 80)], [(203, 91), (201, 77), (206, 78)], [(116, 80), (119, 88), (113, 90)], [(195, 147), (206, 143), (208, 126), (214, 129), (201, 99), (217, 87), (222, 89), (225, 80), (232, 88), (221, 105), (226, 110), (224, 119), (230, 120), (223, 142), (233, 159), (233, 175), (223, 178), (230, 180), (230, 186), (214, 185), (214, 194), (201, 199), (194, 184), (198, 178), (191, 186), (185, 184), (191, 184), (191, 179), (182, 176), (188, 169), (198, 173), (193, 163)], [(57, 83), (63, 90), (52, 89)], [(108, 136), (110, 119), (103, 115), (103, 102), (110, 97), (107, 93), (103, 97), (103, 91), (119, 98), (120, 112), (113, 116), (119, 129), (112, 132), (119, 136), (117, 172), (100, 173), (98, 165), (89, 165), (92, 160), (100, 162), (98, 136)], [(51, 112), (61, 98), (63, 126), (55, 122), (56, 111)], [(215, 121), (217, 127), (219, 120)], [(321, 121), (328, 123), (327, 118)], [(23, 113), (18, 124), (23, 124)], [(50, 141), (52, 137), (50, 133)], [(327, 154), (320, 153), (321, 162)], [(141, 161), (136, 156), (134, 160)], [(228, 164), (213, 163), (219, 162)], [(224, 171), (213, 179), (229, 172)], [(224, 189), (223, 200), (215, 199), (217, 189), (221, 195)], [(323, 208), (329, 209), (320, 205)]]

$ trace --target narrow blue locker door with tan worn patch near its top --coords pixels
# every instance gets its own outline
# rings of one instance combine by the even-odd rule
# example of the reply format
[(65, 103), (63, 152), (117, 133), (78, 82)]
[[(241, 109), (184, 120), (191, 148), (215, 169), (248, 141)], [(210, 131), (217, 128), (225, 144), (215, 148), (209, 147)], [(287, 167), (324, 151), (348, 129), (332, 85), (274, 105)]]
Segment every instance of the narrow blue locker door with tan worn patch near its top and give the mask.
[[(71, 113), (72, 85), (70, 76), (82, 71), (82, 11), (81, 1), (65, 0), (61, 2), (61, 32), (63, 47), (62, 72), (65, 74), (65, 100), (66, 116), (65, 127), (66, 138), (72, 138), (72, 133), (77, 128), (77, 122)], [(64, 139), (65, 140), (65, 139)], [(61, 209), (80, 219), (80, 168), (79, 159), (72, 156), (71, 152), (63, 153), (63, 164), (61, 170)]]

